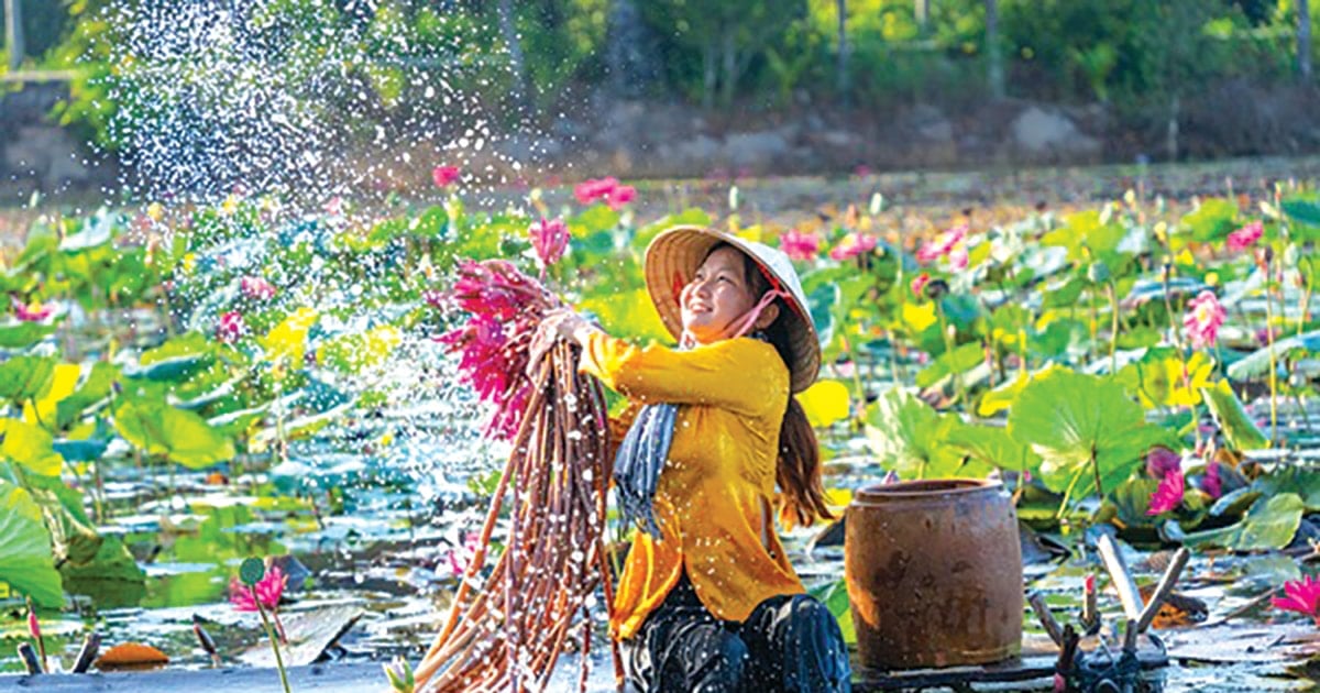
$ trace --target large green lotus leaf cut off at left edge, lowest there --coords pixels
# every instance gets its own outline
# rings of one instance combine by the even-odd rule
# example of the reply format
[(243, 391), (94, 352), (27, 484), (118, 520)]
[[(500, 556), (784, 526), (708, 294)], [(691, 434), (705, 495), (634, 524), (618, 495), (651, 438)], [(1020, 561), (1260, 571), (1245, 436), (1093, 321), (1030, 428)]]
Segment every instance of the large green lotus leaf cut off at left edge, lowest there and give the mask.
[(0, 582), (41, 606), (61, 607), (63, 586), (50, 552), (50, 533), (28, 491), (0, 479)]

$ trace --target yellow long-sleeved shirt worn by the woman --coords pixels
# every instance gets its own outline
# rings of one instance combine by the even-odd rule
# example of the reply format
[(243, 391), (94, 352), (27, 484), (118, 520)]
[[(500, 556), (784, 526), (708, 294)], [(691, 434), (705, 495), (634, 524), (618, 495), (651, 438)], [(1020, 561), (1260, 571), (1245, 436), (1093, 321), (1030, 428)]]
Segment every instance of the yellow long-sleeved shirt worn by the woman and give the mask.
[(661, 539), (638, 532), (614, 598), (610, 630), (627, 639), (678, 582), (684, 565), (717, 618), (746, 620), (762, 601), (801, 594), (779, 536), (762, 544), (762, 500), (775, 492), (788, 368), (750, 338), (689, 351), (636, 347), (603, 333), (585, 339), (579, 368), (642, 404), (678, 404), (669, 459), (656, 486)]

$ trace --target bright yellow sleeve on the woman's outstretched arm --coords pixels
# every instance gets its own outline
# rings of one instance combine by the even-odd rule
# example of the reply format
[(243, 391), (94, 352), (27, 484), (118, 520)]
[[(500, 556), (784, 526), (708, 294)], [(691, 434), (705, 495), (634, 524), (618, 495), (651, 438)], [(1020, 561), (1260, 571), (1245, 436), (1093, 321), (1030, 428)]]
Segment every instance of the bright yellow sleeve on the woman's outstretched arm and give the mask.
[(700, 404), (752, 416), (783, 401), (776, 393), (788, 391), (788, 368), (779, 352), (750, 338), (677, 351), (595, 331), (583, 345), (578, 368), (643, 404)]

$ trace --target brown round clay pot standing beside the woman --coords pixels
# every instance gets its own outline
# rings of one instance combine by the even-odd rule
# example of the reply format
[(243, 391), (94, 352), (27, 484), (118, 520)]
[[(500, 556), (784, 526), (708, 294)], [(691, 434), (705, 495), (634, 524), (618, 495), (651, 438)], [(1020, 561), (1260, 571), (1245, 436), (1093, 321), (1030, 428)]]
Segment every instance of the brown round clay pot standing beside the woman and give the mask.
[(843, 552), (863, 667), (986, 664), (1022, 651), (1018, 516), (999, 482), (862, 488)]

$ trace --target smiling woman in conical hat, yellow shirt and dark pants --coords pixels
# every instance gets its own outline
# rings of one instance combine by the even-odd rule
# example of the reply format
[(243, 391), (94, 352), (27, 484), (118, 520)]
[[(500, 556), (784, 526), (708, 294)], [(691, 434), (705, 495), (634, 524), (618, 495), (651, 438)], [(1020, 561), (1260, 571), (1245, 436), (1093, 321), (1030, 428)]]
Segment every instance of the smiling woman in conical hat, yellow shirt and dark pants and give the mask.
[(610, 624), (628, 682), (850, 690), (838, 623), (805, 594), (771, 512), (829, 517), (816, 437), (792, 397), (820, 370), (797, 275), (774, 248), (676, 227), (647, 248), (645, 277), (676, 350), (630, 345), (574, 313), (543, 326), (581, 345), (581, 370), (634, 404), (611, 425), (627, 430), (614, 482), (639, 527)]

